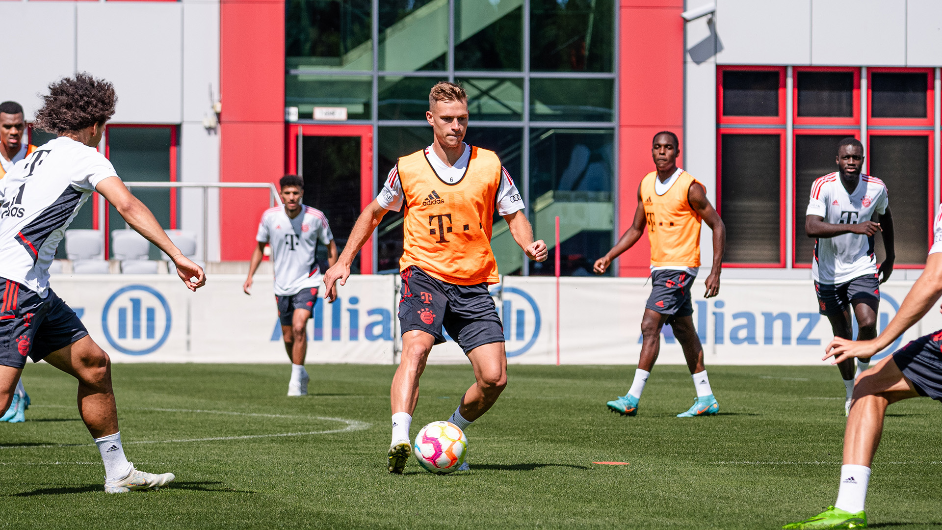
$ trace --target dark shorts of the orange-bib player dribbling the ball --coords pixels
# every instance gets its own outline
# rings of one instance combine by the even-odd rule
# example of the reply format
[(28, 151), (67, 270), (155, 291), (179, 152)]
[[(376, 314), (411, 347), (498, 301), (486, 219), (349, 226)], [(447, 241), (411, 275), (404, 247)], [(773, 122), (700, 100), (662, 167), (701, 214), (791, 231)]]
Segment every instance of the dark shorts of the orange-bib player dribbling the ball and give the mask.
[(441, 344), (445, 342), (444, 326), (465, 354), (482, 344), (504, 341), (504, 326), (486, 283), (453, 285), (414, 265), (399, 275), (402, 298), (398, 316), (402, 333), (418, 329)]

